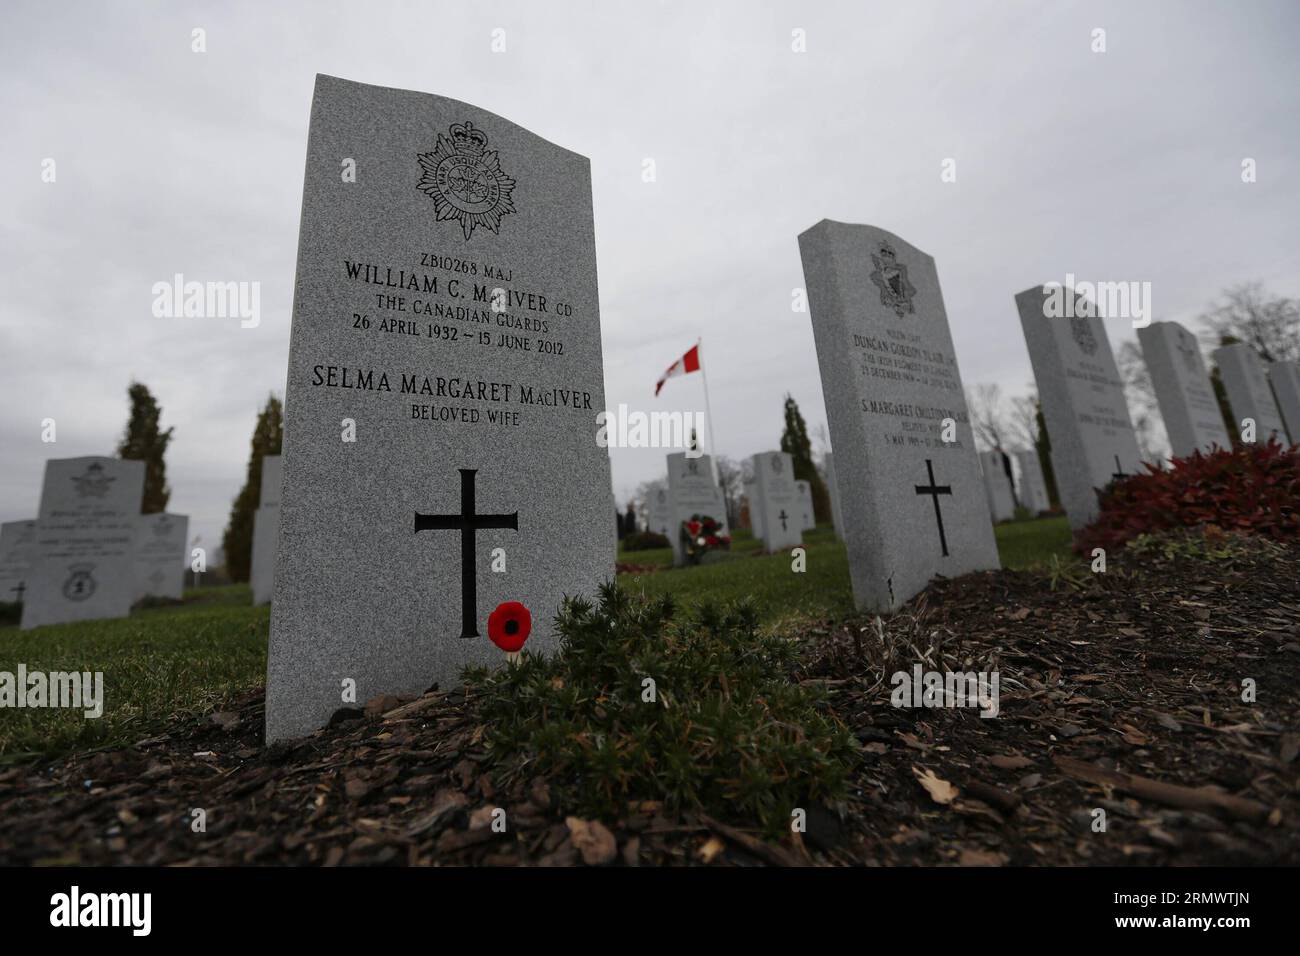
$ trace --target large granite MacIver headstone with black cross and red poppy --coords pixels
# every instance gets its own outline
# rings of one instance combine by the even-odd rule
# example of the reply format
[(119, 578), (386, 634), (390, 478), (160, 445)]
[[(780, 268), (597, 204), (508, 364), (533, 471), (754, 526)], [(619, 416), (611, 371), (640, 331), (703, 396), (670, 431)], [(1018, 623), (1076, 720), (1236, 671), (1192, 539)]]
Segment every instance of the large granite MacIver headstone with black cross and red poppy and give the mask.
[[(339, 161), (355, 160), (355, 182)], [(614, 578), (590, 163), (485, 109), (317, 77), (285, 395), (269, 740), (558, 646)], [(355, 423), (355, 442), (341, 423)]]

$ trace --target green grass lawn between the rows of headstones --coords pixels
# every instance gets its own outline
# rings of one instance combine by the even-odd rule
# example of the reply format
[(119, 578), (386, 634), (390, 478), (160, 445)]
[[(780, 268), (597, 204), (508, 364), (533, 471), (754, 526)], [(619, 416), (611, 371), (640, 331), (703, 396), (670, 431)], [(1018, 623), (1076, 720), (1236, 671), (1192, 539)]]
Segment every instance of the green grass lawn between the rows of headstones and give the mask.
[[(1006, 567), (1069, 555), (1065, 518), (1002, 524), (996, 535)], [(850, 614), (844, 544), (829, 528), (806, 532), (803, 542), (803, 574), (790, 572), (788, 554), (760, 557), (759, 542), (741, 531), (729, 554), (699, 567), (672, 568), (670, 549), (620, 553), (620, 561), (662, 570), (619, 580), (647, 594), (671, 592), (682, 605), (750, 597), (770, 627)], [(181, 605), (142, 607), (118, 620), (34, 631), (20, 631), (13, 622), (0, 626), (0, 671), (13, 674), (20, 662), (29, 671), (103, 671), (105, 697), (104, 715), (92, 721), (81, 710), (0, 709), (0, 763), (129, 744), (160, 732), (178, 715), (202, 714), (259, 687), (266, 674), (269, 623), (270, 610), (251, 606), (247, 585), (229, 585), (188, 591)]]

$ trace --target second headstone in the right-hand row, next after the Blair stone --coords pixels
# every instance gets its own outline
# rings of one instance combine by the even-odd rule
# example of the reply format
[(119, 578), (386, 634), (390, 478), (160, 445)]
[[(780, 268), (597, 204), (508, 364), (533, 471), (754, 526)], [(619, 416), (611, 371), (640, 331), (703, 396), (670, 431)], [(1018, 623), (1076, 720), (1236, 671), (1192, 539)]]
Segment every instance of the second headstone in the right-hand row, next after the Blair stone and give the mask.
[[(1065, 300), (1072, 310), (1061, 306)], [(1088, 299), (1071, 289), (1034, 286), (1015, 297), (1015, 307), (1052, 438), (1061, 505), (1070, 527), (1079, 529), (1100, 514), (1100, 490), (1136, 475), (1141, 464), (1123, 381)]]

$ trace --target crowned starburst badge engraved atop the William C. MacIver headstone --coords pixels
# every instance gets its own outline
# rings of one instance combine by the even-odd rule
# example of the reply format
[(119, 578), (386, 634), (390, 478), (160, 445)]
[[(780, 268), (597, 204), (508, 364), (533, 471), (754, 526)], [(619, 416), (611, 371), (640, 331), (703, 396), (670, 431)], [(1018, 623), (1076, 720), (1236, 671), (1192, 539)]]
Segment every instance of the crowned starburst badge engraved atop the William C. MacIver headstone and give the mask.
[(515, 212), (515, 181), (500, 169), (488, 134), (471, 122), (452, 124), (438, 134), (433, 152), (416, 153), (424, 173), (416, 189), (433, 200), (437, 220), (455, 219), (468, 239), (474, 226), (495, 233), (502, 216)]

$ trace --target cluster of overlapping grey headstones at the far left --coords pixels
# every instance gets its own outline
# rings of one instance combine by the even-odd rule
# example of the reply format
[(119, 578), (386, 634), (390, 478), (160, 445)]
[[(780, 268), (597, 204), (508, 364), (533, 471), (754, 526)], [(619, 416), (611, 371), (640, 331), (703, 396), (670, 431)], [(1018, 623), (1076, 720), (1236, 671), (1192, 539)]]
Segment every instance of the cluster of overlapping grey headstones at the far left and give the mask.
[(144, 597), (179, 600), (190, 519), (140, 514), (144, 463), (46, 462), (34, 520), (0, 525), (0, 594), (22, 627), (122, 618)]

